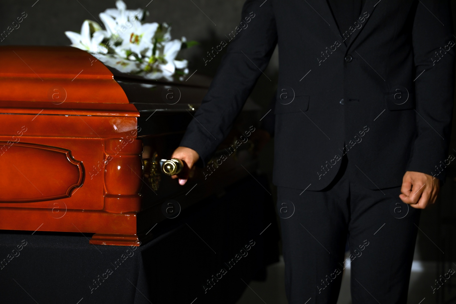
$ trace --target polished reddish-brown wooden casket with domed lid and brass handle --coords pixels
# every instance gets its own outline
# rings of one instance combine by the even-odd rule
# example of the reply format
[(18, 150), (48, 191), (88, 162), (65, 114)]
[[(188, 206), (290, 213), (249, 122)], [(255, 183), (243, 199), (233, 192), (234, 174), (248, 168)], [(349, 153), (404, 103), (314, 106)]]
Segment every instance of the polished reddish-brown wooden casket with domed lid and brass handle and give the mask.
[(214, 158), (227, 147), (234, 155), (210, 178), (195, 168), (181, 186), (161, 172), (206, 77), (145, 80), (69, 46), (3, 46), (0, 67), (0, 229), (87, 232), (92, 244), (139, 246), (156, 237), (157, 223), (255, 170), (259, 132), (233, 145), (258, 128), (260, 108), (248, 102)]

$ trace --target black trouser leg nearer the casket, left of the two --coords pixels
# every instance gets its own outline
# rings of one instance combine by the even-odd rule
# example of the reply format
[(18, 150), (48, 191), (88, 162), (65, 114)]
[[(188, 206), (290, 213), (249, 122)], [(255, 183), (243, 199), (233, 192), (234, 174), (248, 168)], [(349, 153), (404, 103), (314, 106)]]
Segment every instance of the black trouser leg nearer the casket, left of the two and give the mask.
[[(349, 219), (349, 184), (344, 178), (328, 191), (278, 187), (290, 304), (335, 304)], [(338, 269), (338, 271), (337, 271)]]

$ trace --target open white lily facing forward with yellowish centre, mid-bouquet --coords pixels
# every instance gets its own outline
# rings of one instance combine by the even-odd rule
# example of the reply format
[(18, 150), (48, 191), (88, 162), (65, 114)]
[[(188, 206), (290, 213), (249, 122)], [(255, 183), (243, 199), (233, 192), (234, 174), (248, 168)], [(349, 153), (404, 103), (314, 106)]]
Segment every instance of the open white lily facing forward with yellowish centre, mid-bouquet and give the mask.
[(141, 24), (139, 21), (133, 22), (133, 27), (127, 29), (122, 35), (121, 48), (137, 54), (139, 57), (145, 52), (151, 51), (154, 45), (152, 38), (158, 28), (158, 23)]

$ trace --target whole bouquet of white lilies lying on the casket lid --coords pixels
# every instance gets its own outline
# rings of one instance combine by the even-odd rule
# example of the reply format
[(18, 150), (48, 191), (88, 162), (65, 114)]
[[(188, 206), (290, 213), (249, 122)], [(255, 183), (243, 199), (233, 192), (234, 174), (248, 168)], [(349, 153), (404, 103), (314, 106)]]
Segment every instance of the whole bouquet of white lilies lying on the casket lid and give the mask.
[[(116, 7), (99, 14), (105, 30), (98, 23), (86, 20), (80, 34), (66, 31), (72, 46), (93, 53), (120, 72), (136, 73), (148, 79), (165, 77), (172, 81), (176, 69), (188, 74), (188, 61), (176, 60), (182, 43), (187, 41), (185, 37), (171, 40), (171, 26), (165, 22), (161, 26), (156, 22), (142, 24), (144, 10), (127, 10), (122, 0), (116, 1)], [(101, 43), (106, 38), (109, 42), (104, 46)], [(154, 45), (156, 51), (152, 54)]]

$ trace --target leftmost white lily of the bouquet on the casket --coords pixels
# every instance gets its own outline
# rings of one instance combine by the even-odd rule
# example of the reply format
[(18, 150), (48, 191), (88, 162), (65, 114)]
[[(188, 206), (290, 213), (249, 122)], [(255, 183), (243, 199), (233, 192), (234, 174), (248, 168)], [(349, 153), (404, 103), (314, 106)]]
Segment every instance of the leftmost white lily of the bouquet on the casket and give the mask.
[[(90, 25), (97, 25), (94, 26), (95, 32), (93, 33), (93, 37), (90, 35)], [(71, 46), (77, 47), (81, 50), (88, 51), (88, 52), (101, 52), (107, 53), (108, 50), (104, 46), (100, 46), (101, 41), (103, 41), (105, 33), (101, 31), (101, 27), (94, 21), (85, 20), (83, 25), (81, 26), (81, 34), (78, 34), (73, 31), (66, 31), (65, 35), (70, 39)]]

